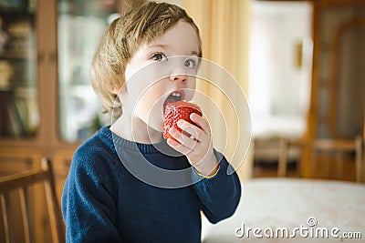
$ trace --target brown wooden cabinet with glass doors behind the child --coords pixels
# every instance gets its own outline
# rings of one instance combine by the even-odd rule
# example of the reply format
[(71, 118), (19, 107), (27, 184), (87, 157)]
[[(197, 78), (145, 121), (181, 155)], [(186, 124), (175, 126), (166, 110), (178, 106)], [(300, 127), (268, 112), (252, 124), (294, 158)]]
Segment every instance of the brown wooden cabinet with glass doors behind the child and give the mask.
[[(89, 45), (88, 35), (93, 34), (96, 44), (100, 36), (89, 25), (98, 25), (101, 35), (111, 15), (125, 6), (121, 0), (0, 1), (0, 176), (40, 167), (41, 157), (48, 157), (61, 205), (71, 158), (85, 138), (65, 136), (76, 124), (69, 112), (79, 112), (72, 108), (93, 93), (89, 74), (85, 75), (95, 48)], [(70, 52), (73, 56), (67, 55)], [(65, 77), (69, 70), (74, 75), (71, 79)], [(83, 80), (78, 79), (80, 70)], [(83, 94), (88, 86), (89, 93)], [(23, 110), (22, 105), (26, 106)], [(74, 129), (74, 133), (85, 134), (85, 127)], [(34, 198), (36, 208), (44, 208), (43, 195)], [(35, 209), (35, 218), (43, 218), (42, 211)], [(49, 242), (49, 230), (42, 220), (35, 225), (35, 242)]]

